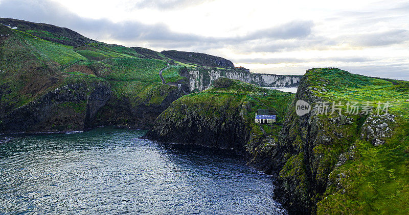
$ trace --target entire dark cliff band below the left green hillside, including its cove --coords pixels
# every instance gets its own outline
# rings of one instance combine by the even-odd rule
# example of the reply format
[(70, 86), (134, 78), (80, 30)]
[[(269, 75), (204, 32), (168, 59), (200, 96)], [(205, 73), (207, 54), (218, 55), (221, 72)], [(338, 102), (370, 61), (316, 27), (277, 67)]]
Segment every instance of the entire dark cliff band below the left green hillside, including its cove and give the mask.
[[(105, 81), (76, 80), (14, 109), (0, 121), (1, 132), (62, 132), (115, 125), (147, 129), (183, 92), (164, 86), (162, 100), (134, 102), (115, 96)], [(153, 93), (152, 93), (153, 95)]]

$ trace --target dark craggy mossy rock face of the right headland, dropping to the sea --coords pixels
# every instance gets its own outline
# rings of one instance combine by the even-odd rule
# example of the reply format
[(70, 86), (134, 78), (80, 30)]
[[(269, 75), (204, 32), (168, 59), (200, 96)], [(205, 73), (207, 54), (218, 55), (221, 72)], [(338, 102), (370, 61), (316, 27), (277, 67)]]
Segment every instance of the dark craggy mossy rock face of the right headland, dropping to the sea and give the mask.
[[(326, 190), (328, 175), (335, 167), (353, 159), (353, 152), (349, 149), (357, 139), (357, 123), (365, 117), (314, 112), (298, 116), (297, 100), (309, 104), (323, 101), (312, 92), (310, 72), (313, 71), (307, 71), (301, 79), (273, 158), (277, 164), (273, 172), (278, 172), (276, 197), (289, 213), (294, 214), (316, 212), (316, 203)], [(326, 83), (326, 80), (321, 82)]]

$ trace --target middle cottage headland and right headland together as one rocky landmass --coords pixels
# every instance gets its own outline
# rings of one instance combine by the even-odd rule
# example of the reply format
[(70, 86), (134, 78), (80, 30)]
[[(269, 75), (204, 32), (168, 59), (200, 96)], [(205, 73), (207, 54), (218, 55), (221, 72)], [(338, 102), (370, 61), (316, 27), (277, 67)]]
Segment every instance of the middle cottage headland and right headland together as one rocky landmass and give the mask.
[[(227, 89), (211, 88), (176, 100), (147, 137), (243, 153), (249, 165), (277, 176), (276, 198), (290, 213), (407, 210), (403, 206), (409, 195), (407, 82), (335, 68), (308, 70), (289, 106), (278, 105), (285, 106), (286, 114), (281, 115), (282, 128), (272, 130), (259, 128), (251, 120), (260, 107), (257, 102), (237, 99), (237, 88), (233, 95), (222, 94), (232, 91)], [(275, 96), (263, 103), (279, 103), (280, 96)], [(344, 105), (340, 115), (310, 112), (298, 116), (299, 99), (311, 105), (332, 101)], [(389, 113), (346, 113), (348, 101), (362, 105), (366, 100), (389, 101)]]

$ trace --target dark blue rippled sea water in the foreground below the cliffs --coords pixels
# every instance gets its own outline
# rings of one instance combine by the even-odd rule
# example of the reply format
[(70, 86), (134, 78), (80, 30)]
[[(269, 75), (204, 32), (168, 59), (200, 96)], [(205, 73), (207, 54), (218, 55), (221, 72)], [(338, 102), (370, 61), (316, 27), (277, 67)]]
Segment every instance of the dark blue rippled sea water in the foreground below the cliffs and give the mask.
[(0, 139), (0, 214), (283, 214), (270, 176), (233, 152), (145, 131)]

